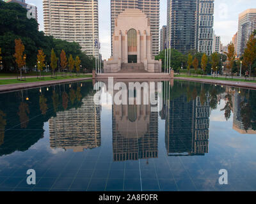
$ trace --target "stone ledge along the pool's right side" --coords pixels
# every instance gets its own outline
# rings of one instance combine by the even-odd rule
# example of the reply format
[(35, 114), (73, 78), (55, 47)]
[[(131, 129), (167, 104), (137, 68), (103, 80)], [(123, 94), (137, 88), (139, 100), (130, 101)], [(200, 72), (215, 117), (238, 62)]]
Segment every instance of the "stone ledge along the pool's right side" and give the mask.
[(231, 82), (225, 80), (214, 80), (214, 79), (204, 79), (204, 78), (187, 78), (187, 77), (174, 77), (175, 80), (185, 80), (191, 82), (202, 82), (205, 84), (220, 84), (220, 85), (230, 85), (232, 87), (243, 87), (248, 89), (256, 89), (256, 83), (253, 82)]

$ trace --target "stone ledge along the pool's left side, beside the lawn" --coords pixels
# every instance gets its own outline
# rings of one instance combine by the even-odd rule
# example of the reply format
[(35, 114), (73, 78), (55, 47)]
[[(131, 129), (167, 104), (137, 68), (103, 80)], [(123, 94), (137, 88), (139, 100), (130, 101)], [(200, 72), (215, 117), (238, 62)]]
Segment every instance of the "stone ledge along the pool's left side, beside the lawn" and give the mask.
[(20, 84), (7, 84), (0, 85), (0, 92), (9, 92), (9, 91), (17, 91), (20, 89), (29, 89), (35, 87), (44, 87), (45, 85), (54, 85), (54, 84), (64, 84), (68, 82), (79, 82), (83, 80), (90, 80), (91, 77), (86, 78), (68, 78), (63, 80), (51, 80), (51, 81), (42, 81), (42, 82), (29, 82), (29, 83), (20, 83)]

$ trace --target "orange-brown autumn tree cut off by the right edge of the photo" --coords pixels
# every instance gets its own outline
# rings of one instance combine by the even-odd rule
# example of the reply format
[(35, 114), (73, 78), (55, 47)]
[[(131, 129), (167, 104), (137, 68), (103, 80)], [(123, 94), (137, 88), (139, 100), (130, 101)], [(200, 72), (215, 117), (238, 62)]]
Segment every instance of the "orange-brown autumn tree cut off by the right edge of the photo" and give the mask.
[(248, 64), (250, 66), (249, 76), (251, 77), (252, 65), (256, 59), (256, 38), (253, 36), (253, 34), (250, 36), (246, 44), (243, 57), (245, 64)]

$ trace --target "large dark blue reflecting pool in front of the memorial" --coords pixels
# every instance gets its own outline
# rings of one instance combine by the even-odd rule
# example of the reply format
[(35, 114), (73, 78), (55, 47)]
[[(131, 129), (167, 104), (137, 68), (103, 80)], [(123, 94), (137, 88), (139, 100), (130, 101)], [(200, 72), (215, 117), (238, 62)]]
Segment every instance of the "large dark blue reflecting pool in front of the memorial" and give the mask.
[(158, 112), (91, 81), (0, 94), (0, 191), (255, 191), (256, 91), (162, 84)]

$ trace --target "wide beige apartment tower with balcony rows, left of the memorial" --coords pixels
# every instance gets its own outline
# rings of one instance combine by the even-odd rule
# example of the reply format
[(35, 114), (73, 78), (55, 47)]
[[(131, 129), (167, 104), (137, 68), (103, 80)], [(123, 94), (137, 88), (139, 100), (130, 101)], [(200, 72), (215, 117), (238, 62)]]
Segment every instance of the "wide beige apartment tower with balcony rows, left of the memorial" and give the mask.
[(99, 55), (98, 0), (43, 0), (43, 6), (45, 34), (75, 41), (87, 55)]

